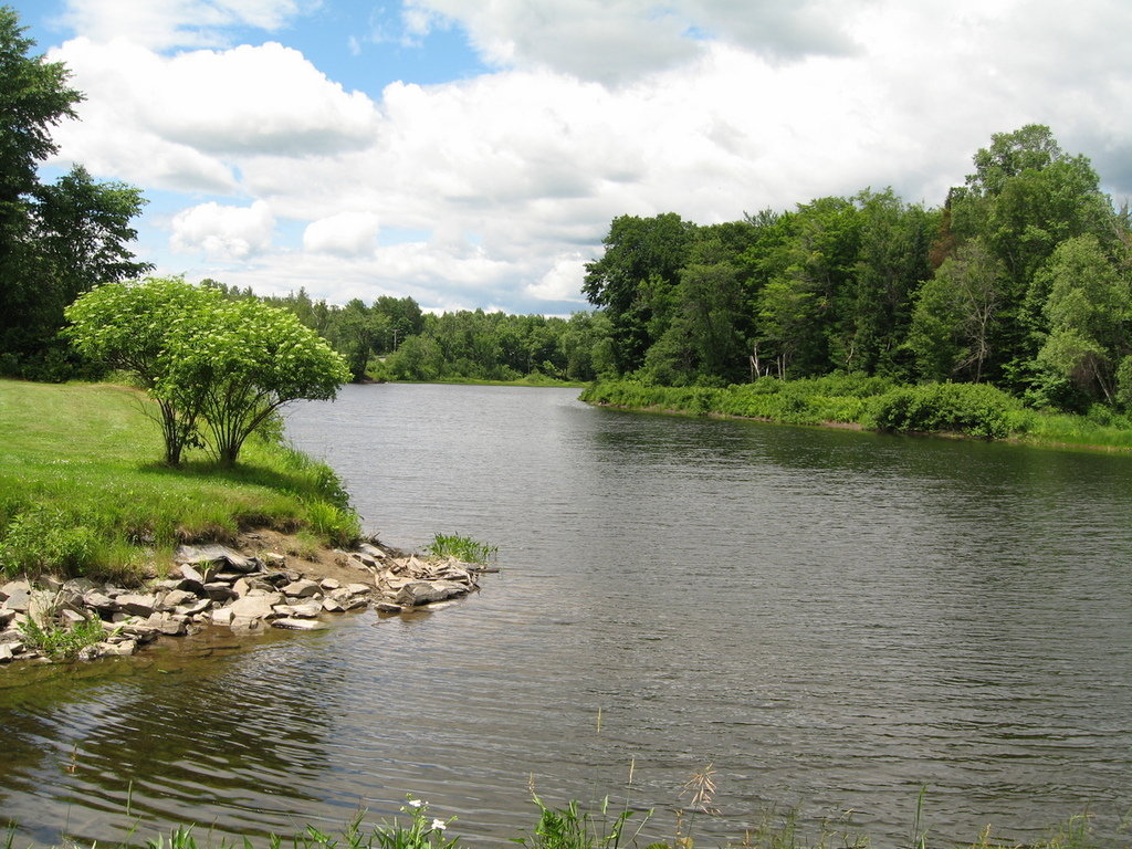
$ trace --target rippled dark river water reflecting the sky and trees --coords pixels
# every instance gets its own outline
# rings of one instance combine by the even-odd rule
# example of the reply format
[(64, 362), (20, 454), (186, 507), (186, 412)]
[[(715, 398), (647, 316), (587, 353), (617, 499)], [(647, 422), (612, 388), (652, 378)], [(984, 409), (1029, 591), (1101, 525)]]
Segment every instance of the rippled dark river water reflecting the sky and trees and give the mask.
[[(499, 546), (481, 593), (326, 632), (0, 671), (20, 838), (333, 829), (406, 794), (472, 842), (549, 801), (702, 844), (772, 807), (907, 842), (1132, 806), (1132, 458), (351, 386), (289, 415), (367, 530)], [(600, 721), (599, 721), (600, 712)], [(600, 724), (600, 727), (599, 727)], [(628, 782), (632, 767), (632, 783)]]

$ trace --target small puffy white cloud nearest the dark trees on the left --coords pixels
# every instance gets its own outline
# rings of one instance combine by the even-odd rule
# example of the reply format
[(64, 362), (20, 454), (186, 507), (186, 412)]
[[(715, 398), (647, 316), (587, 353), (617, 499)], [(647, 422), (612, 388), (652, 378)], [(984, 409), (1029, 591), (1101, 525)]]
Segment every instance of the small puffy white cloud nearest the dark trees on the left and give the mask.
[(170, 247), (203, 251), (209, 259), (248, 259), (272, 243), (275, 216), (263, 200), (249, 207), (214, 201), (183, 209), (173, 216)]

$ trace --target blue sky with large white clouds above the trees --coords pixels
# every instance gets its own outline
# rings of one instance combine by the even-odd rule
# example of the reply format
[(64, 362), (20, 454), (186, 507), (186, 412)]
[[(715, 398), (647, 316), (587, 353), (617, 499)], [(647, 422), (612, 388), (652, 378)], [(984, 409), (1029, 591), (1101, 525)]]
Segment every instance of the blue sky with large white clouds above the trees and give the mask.
[(160, 273), (568, 315), (621, 214), (892, 187), (1048, 125), (1132, 195), (1127, 0), (8, 0)]

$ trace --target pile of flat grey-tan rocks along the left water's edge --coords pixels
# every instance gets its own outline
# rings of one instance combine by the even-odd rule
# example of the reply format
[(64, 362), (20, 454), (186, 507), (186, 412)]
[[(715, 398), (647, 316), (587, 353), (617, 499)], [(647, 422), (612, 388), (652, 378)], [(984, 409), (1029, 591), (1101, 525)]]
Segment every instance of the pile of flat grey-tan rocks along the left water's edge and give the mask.
[[(209, 626), (249, 633), (272, 626), (315, 631), (324, 614), (372, 604), (383, 614), (466, 595), (479, 589), (481, 572), (448, 558), (422, 559), (372, 543), (342, 551), (338, 561), (358, 572), (357, 582), (307, 576), (283, 555), (246, 557), (225, 546), (181, 546), (170, 577), (144, 591), (95, 584), (87, 578), (41, 577), (35, 584), (0, 586), (0, 663), (48, 658), (29, 632), (66, 635), (97, 623), (79, 660), (123, 657), (160, 636), (194, 634)], [(38, 642), (43, 642), (42, 640)], [(63, 646), (66, 650), (66, 646)], [(57, 650), (58, 653), (58, 650)]]

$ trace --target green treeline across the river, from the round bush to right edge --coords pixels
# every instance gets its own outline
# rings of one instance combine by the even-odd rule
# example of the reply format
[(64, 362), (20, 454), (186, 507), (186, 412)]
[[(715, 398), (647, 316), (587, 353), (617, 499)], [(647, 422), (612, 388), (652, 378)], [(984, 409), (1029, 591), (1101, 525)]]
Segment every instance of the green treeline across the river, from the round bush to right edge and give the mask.
[(1031, 406), (1132, 402), (1132, 228), (1047, 127), (995, 135), (938, 208), (891, 190), (696, 225), (615, 218), (568, 319), (268, 299), (354, 376), (727, 386), (761, 377), (986, 383)]

